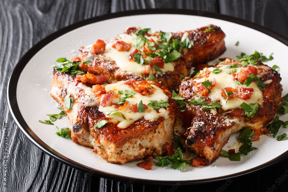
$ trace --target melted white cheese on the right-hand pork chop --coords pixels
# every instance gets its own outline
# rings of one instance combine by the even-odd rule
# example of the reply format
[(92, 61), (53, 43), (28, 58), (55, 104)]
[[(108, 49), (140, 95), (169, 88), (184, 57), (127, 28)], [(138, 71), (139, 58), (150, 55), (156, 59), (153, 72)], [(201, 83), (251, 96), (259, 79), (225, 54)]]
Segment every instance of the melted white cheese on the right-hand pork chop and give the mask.
[[(208, 95), (208, 98), (210, 98), (213, 102), (219, 102), (220, 104), (222, 104), (222, 109), (224, 111), (228, 110), (228, 109), (235, 109), (235, 108), (241, 108), (240, 104), (242, 104), (242, 102), (245, 102), (247, 104), (251, 104), (251, 103), (257, 103), (262, 105), (262, 101), (263, 101), (263, 95), (262, 95), (262, 91), (258, 88), (258, 84), (256, 81), (253, 81), (248, 87), (246, 85), (237, 85), (234, 80), (233, 80), (233, 76), (227, 74), (227, 71), (230, 71), (232, 69), (236, 69), (236, 74), (240, 72), (240, 67), (238, 68), (233, 68), (231, 67), (230, 69), (226, 69), (226, 66), (228, 65), (224, 65), (222, 67), (220, 67), (219, 69), (222, 69), (222, 71), (218, 74), (214, 74), (214, 73), (210, 73), (209, 77), (205, 77), (202, 79), (195, 79), (195, 81), (198, 82), (204, 82), (206, 80), (210, 80), (215, 78), (216, 79), (216, 84), (215, 86), (211, 89), (211, 93)], [(257, 66), (258, 67), (258, 66)], [(210, 71), (213, 71), (215, 68), (214, 67), (210, 67), (208, 68)], [(221, 96), (221, 88), (225, 88), (225, 87), (232, 87), (232, 88), (238, 88), (238, 87), (243, 87), (243, 88), (253, 88), (253, 94), (251, 95), (251, 98), (248, 100), (243, 100), (243, 99), (239, 99), (239, 98), (234, 98), (234, 99), (230, 99), (228, 100), (227, 104), (226, 103), (226, 99), (224, 99)]]

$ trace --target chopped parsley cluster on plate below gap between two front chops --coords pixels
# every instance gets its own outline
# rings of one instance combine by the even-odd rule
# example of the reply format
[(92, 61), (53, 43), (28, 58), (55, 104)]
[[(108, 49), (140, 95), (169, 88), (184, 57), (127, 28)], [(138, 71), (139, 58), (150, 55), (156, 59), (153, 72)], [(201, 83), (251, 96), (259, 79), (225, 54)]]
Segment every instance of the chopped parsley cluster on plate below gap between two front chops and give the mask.
[[(192, 156), (191, 156), (192, 157)], [(183, 153), (181, 151), (181, 148), (178, 148), (175, 153), (170, 157), (165, 156), (165, 157), (158, 157), (155, 156), (155, 158), (159, 161), (158, 163), (156, 163), (157, 166), (168, 166), (170, 164), (174, 165), (174, 170), (175, 169), (179, 169), (180, 171), (182, 170), (183, 166), (186, 165), (186, 162), (191, 161), (191, 158), (188, 161), (184, 161), (183, 160)]]

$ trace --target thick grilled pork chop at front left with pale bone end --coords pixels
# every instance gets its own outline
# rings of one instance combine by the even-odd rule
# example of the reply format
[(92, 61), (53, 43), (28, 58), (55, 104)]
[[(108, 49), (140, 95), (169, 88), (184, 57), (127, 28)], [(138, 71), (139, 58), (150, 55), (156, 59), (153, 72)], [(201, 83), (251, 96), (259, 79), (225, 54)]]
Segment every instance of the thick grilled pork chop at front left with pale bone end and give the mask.
[[(165, 155), (180, 111), (169, 90), (155, 81), (92, 85), (76, 79), (54, 70), (50, 92), (70, 120), (73, 142), (111, 163)], [(74, 100), (71, 110), (64, 107), (67, 94)]]

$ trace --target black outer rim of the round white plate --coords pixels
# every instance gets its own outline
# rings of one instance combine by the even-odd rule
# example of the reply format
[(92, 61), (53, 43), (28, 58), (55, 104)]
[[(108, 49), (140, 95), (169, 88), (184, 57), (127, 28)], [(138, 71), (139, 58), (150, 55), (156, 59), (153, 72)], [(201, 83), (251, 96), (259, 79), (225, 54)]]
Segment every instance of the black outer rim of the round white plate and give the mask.
[[(52, 33), (51, 35), (48, 35), (47, 37), (45, 37), (44, 39), (42, 39), (41, 41), (36, 43), (31, 49), (29, 49), (26, 52), (26, 54), (24, 54), (24, 56), (22, 56), (22, 58), (19, 60), (19, 62), (15, 66), (15, 69), (12, 72), (10, 79), (8, 81), (8, 88), (7, 88), (7, 100), (8, 100), (10, 112), (12, 114), (13, 119), (16, 121), (18, 127), (24, 133), (24, 135), (26, 137), (28, 137), (29, 140), (31, 140), (43, 152), (50, 155), (54, 159), (62, 162), (63, 164), (66, 164), (68, 166), (71, 166), (73, 168), (81, 170), (83, 172), (87, 172), (89, 174), (91, 174), (91, 172), (92, 172), (92, 174), (95, 176), (101, 176), (104, 178), (120, 180), (120, 181), (131, 181), (131, 179), (132, 179), (133, 182), (135, 182), (135, 183), (151, 183), (151, 184), (164, 184), (164, 185), (165, 184), (171, 185), (171, 184), (177, 183), (177, 182), (181, 182), (181, 184), (208, 183), (208, 182), (212, 182), (212, 181), (223, 180), (223, 179), (227, 179), (227, 178), (232, 178), (232, 177), (242, 176), (242, 175), (245, 175), (248, 173), (252, 173), (252, 172), (266, 168), (272, 164), (276, 164), (276, 163), (286, 159), (288, 157), (288, 151), (286, 151), (285, 153), (281, 154), (280, 156), (278, 156), (278, 157), (276, 157), (276, 158), (274, 158), (274, 159), (272, 159), (272, 160), (270, 160), (270, 161), (268, 161), (262, 165), (259, 165), (255, 168), (251, 168), (251, 169), (246, 170), (246, 171), (242, 171), (242, 172), (238, 172), (238, 173), (230, 174), (230, 175), (226, 175), (226, 176), (221, 176), (221, 177), (217, 177), (217, 178), (200, 179), (200, 180), (185, 180), (185, 181), (148, 180), (148, 179), (130, 178), (130, 177), (126, 177), (126, 176), (111, 174), (108, 172), (92, 169), (88, 166), (79, 164), (78, 162), (75, 162), (75, 161), (65, 157), (64, 155), (61, 155), (60, 153), (56, 152), (54, 149), (52, 149), (51, 147), (46, 145), (41, 139), (39, 139), (39, 137), (29, 128), (29, 126), (25, 122), (24, 118), (22, 117), (20, 110), (19, 110), (19, 107), (18, 107), (17, 99), (16, 99), (16, 86), (18, 83), (18, 79), (20, 77), (20, 74), (22, 73), (22, 70), (24, 69), (26, 64), (29, 62), (29, 60), (45, 45), (47, 45), (48, 43), (50, 43), (54, 39), (60, 37), (61, 35), (64, 35), (65, 33), (68, 33), (69, 31), (72, 31), (76, 28), (79, 28), (79, 27), (82, 27), (82, 26), (85, 26), (85, 25), (88, 25), (91, 23), (107, 20), (107, 19), (113, 19), (113, 18), (124, 17), (124, 16), (132, 16), (132, 15), (145, 15), (145, 14), (178, 14), (178, 15), (198, 16), (198, 11), (183, 10), (183, 9), (157, 9), (157, 10), (156, 9), (144, 9), (144, 10), (132, 10), (132, 11), (126, 11), (126, 12), (118, 12), (118, 13), (113, 13), (113, 14), (107, 14), (104, 16), (97, 16), (97, 17), (83, 20), (83, 21), (71, 24), (67, 27), (64, 27), (64, 28)], [(273, 37), (274, 39), (277, 39), (278, 41), (280, 41), (280, 42), (282, 42), (288, 46), (288, 39), (287, 38), (283, 37), (282, 35), (275, 33), (274, 31), (272, 31), (268, 28), (260, 26), (258, 24), (248, 22), (248, 21), (245, 21), (242, 19), (234, 18), (231, 16), (221, 15), (221, 14), (217, 14), (217, 13), (210, 13), (210, 12), (204, 13), (203, 17), (216, 18), (216, 19), (240, 24), (243, 26), (247, 26), (247, 27), (255, 29), (259, 32), (265, 33), (265, 34), (269, 35), (270, 37)]]

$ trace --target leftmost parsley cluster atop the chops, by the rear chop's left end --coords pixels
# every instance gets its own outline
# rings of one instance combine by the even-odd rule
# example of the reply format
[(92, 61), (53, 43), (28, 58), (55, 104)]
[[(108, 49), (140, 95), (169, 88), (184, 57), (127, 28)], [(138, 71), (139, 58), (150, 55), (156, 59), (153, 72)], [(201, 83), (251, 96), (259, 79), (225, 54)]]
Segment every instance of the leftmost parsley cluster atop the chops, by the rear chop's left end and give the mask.
[(84, 75), (85, 73), (83, 71), (77, 69), (77, 66), (80, 63), (86, 64), (86, 63), (90, 63), (90, 62), (91, 62), (90, 60), (87, 60), (85, 62), (74, 63), (74, 62), (68, 61), (66, 58), (58, 58), (56, 60), (56, 64), (53, 65), (52, 67), (54, 67), (54, 69), (59, 73), (68, 72), (68, 73), (71, 73), (71, 76)]

